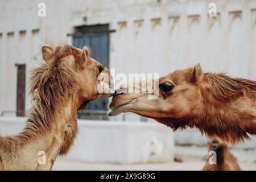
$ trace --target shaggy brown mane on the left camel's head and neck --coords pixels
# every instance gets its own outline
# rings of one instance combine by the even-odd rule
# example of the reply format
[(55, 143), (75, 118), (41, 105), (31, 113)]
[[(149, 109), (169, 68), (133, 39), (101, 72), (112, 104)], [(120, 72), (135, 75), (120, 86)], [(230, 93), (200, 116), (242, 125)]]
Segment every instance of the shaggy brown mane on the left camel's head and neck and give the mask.
[[(55, 111), (67, 102), (68, 96), (77, 87), (75, 72), (68, 67), (65, 60), (69, 55), (77, 55), (72, 46), (56, 47), (55, 53), (48, 63), (31, 70), (29, 93), (32, 98), (32, 108), (28, 115), (26, 127), (13, 137), (0, 137), (0, 145), (11, 150), (13, 146), (26, 144), (38, 133), (49, 132), (55, 122)], [(61, 148), (60, 154), (67, 153), (77, 133), (76, 111), (71, 119), (71, 131), (65, 133), (67, 146)], [(67, 139), (67, 140), (66, 140)]]

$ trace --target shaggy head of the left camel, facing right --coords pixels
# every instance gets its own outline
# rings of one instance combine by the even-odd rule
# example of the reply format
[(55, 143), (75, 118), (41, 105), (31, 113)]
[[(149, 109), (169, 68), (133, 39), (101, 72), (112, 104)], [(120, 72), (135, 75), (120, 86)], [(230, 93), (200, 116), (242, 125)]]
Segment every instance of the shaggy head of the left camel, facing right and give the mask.
[(78, 107), (85, 107), (90, 100), (99, 97), (112, 96), (110, 72), (90, 57), (89, 48), (43, 46), (42, 55), (46, 63), (32, 71), (32, 95), (38, 92), (38, 96), (46, 101), (52, 102), (53, 97), (59, 102), (57, 97), (65, 100), (65, 96), (75, 94)]

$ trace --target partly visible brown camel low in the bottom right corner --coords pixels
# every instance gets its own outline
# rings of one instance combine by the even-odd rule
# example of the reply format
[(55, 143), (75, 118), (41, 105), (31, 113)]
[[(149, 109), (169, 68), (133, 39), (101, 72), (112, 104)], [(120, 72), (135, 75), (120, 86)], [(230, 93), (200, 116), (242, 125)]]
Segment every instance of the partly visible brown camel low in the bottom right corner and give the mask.
[(216, 152), (216, 164), (210, 164), (209, 156), (203, 171), (241, 171), (237, 158), (229, 151), (228, 145), (217, 138), (209, 142), (209, 151)]

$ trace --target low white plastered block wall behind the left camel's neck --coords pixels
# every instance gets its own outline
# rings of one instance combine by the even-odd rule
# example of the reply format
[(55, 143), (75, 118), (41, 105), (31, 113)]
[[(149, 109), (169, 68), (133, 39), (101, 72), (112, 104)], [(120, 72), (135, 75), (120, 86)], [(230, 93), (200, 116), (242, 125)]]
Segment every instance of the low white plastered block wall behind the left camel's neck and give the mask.
[[(3, 136), (17, 134), (25, 118), (1, 118)], [(174, 158), (174, 133), (151, 122), (79, 121), (79, 135), (69, 160), (117, 164), (170, 162)]]

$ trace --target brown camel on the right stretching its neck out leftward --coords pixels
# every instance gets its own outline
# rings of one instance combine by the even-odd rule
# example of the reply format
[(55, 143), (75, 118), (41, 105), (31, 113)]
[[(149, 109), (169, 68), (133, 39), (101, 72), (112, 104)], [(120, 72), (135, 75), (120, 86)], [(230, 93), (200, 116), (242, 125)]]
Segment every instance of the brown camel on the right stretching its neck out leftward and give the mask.
[(159, 78), (156, 100), (149, 100), (149, 93), (129, 93), (129, 88), (114, 94), (109, 116), (130, 111), (174, 130), (196, 127), (233, 143), (256, 134), (255, 81), (203, 73), (197, 64)]

